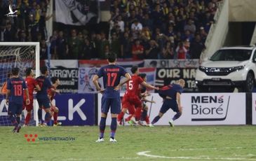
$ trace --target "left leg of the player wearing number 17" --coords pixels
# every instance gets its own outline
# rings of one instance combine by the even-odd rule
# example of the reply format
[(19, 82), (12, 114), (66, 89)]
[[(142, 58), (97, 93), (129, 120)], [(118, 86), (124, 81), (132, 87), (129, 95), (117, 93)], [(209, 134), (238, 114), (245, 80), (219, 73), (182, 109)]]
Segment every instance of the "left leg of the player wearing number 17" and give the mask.
[(101, 99), (101, 104), (102, 104), (102, 108), (101, 108), (102, 111), (101, 111), (100, 126), (99, 126), (100, 133), (99, 133), (99, 138), (97, 139), (96, 142), (104, 141), (104, 133), (106, 128), (106, 120), (107, 120), (107, 113), (109, 111), (110, 100), (103, 96)]

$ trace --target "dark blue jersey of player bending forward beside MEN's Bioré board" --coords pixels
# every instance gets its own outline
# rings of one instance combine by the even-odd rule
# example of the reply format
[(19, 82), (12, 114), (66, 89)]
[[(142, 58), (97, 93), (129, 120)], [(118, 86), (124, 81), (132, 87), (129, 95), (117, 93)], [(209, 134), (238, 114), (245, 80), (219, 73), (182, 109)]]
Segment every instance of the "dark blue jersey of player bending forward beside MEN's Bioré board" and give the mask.
[(175, 100), (176, 100), (177, 92), (179, 92), (179, 93), (183, 92), (182, 87), (177, 84), (166, 85), (166, 86), (161, 87), (161, 89), (159, 89), (159, 95), (161, 97), (168, 96)]

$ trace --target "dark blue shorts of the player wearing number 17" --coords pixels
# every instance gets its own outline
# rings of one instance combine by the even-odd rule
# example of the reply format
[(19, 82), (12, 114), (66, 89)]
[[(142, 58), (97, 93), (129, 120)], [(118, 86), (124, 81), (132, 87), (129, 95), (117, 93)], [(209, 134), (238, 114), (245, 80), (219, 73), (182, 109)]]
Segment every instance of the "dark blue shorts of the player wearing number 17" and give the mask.
[(102, 96), (101, 112), (102, 113), (108, 113), (110, 107), (111, 107), (111, 109), (110, 109), (111, 113), (119, 114), (121, 112), (120, 97), (118, 97), (118, 98), (106, 98), (106, 97)]

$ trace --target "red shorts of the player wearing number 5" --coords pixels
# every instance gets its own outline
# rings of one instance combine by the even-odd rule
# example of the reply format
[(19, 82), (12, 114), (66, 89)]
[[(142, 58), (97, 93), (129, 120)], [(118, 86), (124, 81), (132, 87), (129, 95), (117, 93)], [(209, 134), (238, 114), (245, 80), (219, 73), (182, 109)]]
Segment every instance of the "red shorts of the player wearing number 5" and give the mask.
[(135, 106), (135, 108), (137, 108), (137, 107), (142, 108), (142, 101), (137, 96), (129, 97), (126, 95), (122, 99), (122, 107), (124, 109), (129, 109), (130, 106)]

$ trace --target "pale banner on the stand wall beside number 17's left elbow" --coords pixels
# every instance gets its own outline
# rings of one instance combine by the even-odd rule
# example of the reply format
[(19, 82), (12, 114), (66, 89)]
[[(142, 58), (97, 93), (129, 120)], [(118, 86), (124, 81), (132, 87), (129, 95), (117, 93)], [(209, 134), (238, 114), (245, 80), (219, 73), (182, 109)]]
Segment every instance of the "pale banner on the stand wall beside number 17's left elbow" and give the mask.
[[(96, 87), (93, 85), (93, 76), (100, 68), (79, 68), (79, 93), (96, 93)], [(99, 79), (100, 86), (103, 86), (102, 78)]]

